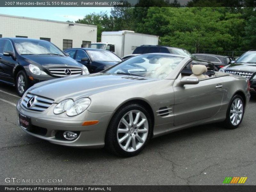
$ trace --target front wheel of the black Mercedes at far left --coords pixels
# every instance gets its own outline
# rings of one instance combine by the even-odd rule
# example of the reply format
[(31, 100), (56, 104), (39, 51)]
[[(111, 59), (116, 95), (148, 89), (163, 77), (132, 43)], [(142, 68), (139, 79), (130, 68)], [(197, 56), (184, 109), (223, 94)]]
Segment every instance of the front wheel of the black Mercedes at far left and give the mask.
[(28, 89), (28, 76), (25, 71), (18, 72), (15, 80), (15, 87), (18, 95), (22, 97), (24, 92)]

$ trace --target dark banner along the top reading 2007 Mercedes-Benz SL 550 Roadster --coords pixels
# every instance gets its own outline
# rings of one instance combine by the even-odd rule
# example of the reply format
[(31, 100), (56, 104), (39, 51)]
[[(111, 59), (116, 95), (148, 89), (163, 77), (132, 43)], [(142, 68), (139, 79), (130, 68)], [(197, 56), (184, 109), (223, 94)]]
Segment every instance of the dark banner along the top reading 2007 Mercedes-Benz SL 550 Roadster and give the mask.
[(1, 0), (0, 7), (256, 7), (255, 0)]

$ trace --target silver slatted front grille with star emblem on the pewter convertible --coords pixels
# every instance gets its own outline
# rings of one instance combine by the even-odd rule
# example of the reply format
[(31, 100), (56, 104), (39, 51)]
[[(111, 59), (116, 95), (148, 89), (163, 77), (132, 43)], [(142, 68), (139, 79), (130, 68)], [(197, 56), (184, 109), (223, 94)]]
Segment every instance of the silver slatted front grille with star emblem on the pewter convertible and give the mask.
[[(28, 103), (29, 100), (31, 101), (30, 103)], [(24, 99), (21, 101), (21, 104), (29, 110), (45, 111), (47, 108), (49, 108), (52, 105), (53, 102), (54, 100), (52, 99), (28, 93), (24, 97)]]

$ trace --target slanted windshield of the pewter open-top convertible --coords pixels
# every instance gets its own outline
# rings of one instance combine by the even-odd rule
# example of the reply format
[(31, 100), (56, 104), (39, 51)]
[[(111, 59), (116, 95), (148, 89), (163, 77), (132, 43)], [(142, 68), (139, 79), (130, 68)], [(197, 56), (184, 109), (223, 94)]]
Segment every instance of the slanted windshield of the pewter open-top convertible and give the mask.
[(139, 55), (104, 71), (110, 74), (134, 75), (163, 79), (178, 66), (184, 58), (169, 55)]

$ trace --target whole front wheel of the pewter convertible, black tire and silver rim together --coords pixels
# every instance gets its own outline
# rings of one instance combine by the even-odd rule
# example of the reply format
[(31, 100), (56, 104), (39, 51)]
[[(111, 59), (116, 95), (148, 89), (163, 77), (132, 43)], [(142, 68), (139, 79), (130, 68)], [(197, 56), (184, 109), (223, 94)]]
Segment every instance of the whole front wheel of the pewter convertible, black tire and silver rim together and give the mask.
[(117, 156), (138, 155), (147, 144), (151, 131), (148, 111), (137, 103), (126, 104), (116, 111), (108, 125), (105, 147)]

